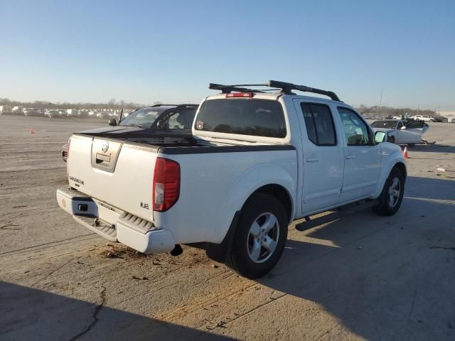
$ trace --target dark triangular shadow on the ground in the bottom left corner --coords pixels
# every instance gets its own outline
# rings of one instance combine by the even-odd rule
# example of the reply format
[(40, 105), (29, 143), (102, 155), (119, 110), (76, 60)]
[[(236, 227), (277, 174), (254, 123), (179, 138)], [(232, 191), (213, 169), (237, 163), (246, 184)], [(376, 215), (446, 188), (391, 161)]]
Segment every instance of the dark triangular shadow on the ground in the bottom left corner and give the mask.
[(0, 281), (1, 340), (233, 340)]

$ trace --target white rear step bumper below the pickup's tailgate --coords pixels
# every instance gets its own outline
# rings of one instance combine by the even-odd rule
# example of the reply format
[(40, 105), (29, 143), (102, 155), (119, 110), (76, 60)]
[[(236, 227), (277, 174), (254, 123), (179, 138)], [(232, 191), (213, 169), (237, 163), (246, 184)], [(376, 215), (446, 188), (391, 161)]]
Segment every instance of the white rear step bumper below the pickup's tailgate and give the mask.
[(149, 221), (77, 190), (60, 188), (56, 197), (60, 208), (73, 215), (77, 222), (112, 242), (120, 242), (144, 254), (168, 252), (175, 247), (167, 229), (157, 229)]

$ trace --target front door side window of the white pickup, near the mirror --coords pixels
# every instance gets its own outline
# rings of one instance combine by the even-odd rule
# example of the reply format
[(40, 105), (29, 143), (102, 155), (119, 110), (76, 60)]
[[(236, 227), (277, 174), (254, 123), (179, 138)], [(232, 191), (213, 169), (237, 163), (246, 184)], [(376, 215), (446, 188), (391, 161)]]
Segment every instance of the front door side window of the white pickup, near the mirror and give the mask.
[(343, 107), (338, 107), (338, 113), (343, 122), (344, 134), (346, 135), (348, 146), (368, 146), (371, 144), (368, 127), (358, 117), (358, 114)]

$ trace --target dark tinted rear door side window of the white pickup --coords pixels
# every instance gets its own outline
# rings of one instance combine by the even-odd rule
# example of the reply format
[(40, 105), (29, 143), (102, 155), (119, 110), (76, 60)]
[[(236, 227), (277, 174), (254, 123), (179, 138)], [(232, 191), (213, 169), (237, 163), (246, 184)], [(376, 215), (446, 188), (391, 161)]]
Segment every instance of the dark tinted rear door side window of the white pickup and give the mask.
[(325, 104), (301, 103), (306, 134), (317, 146), (335, 146), (336, 134), (330, 108)]

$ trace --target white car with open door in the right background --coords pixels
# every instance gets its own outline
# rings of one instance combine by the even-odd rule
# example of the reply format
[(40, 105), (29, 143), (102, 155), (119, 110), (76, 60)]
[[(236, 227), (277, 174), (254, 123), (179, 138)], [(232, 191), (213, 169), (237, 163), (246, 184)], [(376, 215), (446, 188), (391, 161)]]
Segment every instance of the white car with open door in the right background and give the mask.
[(422, 135), (428, 130), (424, 121), (402, 121), (401, 119), (382, 119), (371, 124), (374, 131), (387, 134), (387, 141), (392, 144), (422, 143)]

